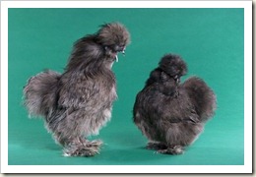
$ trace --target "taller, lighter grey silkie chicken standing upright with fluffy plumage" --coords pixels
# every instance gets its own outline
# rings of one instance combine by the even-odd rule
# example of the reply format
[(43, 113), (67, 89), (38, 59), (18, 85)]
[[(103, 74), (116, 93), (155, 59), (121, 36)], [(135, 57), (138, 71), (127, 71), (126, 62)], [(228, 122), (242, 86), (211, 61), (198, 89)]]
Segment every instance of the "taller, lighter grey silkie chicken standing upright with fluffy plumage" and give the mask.
[(63, 74), (39, 73), (24, 88), (30, 114), (44, 118), (46, 128), (64, 147), (64, 155), (98, 153), (101, 141), (86, 138), (98, 134), (110, 120), (117, 96), (111, 67), (129, 41), (130, 34), (123, 25), (103, 25), (74, 44)]

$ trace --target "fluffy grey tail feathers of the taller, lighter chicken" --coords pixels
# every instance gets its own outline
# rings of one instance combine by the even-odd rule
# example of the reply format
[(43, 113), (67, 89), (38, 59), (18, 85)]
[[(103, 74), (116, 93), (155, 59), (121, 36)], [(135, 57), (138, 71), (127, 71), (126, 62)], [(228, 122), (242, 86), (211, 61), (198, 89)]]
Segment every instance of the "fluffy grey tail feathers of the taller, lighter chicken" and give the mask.
[(57, 102), (58, 81), (60, 74), (44, 71), (32, 77), (24, 87), (24, 104), (30, 116), (51, 114)]

